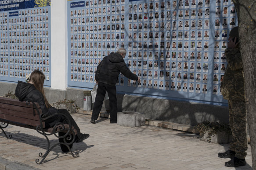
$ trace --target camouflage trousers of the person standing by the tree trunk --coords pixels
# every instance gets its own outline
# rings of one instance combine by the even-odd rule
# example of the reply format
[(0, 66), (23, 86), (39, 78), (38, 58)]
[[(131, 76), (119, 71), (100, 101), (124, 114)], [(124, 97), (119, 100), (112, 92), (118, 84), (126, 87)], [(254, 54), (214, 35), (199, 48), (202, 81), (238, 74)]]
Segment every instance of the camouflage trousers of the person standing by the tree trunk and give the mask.
[(232, 142), (230, 150), (235, 152), (235, 157), (244, 159), (247, 143), (247, 118), (245, 111), (244, 96), (235, 97), (228, 100), (229, 107), (229, 124), (232, 131)]

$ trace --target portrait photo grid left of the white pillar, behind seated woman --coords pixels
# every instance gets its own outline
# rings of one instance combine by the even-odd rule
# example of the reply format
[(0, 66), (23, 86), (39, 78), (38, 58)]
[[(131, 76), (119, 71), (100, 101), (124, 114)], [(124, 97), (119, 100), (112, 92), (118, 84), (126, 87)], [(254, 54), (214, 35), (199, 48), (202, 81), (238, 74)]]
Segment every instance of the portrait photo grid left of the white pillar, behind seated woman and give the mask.
[(0, 12), (1, 80), (24, 81), (26, 75), (37, 69), (49, 81), (49, 10), (50, 7), (40, 7)]

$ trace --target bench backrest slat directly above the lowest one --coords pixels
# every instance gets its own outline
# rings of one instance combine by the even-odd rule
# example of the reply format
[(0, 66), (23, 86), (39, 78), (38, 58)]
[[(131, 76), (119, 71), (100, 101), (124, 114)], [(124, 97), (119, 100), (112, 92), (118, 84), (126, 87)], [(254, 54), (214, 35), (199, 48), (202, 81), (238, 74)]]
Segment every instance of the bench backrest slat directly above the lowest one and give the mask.
[(35, 120), (35, 121), (40, 121), (39, 115), (36, 114), (28, 114), (26, 112), (21, 112), (21, 111), (12, 111), (4, 108), (0, 108), (0, 114), (8, 114), (12, 115), (15, 117), (20, 117), (20, 118), (27, 118), (30, 120)]

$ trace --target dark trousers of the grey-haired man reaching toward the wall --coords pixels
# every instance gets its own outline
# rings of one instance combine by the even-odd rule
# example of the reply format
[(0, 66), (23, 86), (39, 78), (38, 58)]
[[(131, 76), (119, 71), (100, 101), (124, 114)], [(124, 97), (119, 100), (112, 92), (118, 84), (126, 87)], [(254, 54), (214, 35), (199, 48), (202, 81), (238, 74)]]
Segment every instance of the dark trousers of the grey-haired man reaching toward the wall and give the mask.
[(115, 86), (111, 86), (101, 82), (98, 83), (98, 89), (97, 89), (96, 99), (94, 102), (92, 119), (97, 120), (101, 111), (101, 107), (105, 98), (106, 91), (108, 92), (108, 97), (109, 97), (110, 120), (116, 121), (117, 101), (116, 101)]

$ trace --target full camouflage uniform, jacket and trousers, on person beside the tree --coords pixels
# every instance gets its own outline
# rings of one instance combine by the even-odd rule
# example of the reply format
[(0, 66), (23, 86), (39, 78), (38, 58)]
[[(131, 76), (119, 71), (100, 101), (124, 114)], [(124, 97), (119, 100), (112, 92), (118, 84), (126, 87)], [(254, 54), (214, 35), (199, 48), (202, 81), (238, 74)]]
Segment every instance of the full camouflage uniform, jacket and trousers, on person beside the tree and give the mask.
[(232, 131), (230, 150), (235, 157), (244, 159), (247, 150), (247, 119), (242, 56), (239, 48), (225, 50), (227, 69), (221, 82), (221, 93), (228, 100), (229, 124)]

